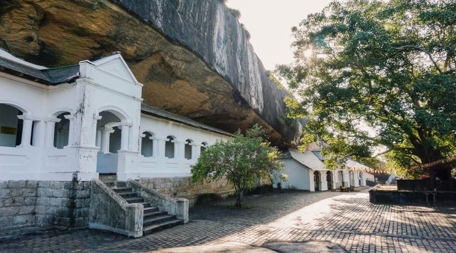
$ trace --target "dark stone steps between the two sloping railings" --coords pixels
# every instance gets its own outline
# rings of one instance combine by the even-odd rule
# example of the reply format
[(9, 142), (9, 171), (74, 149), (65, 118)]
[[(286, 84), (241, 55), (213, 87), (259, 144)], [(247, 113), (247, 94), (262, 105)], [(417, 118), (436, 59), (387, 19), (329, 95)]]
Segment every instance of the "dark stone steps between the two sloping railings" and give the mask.
[(184, 221), (176, 219), (175, 215), (169, 215), (168, 212), (161, 211), (158, 207), (151, 206), (144, 198), (138, 196), (138, 193), (134, 192), (132, 187), (128, 187), (125, 181), (117, 181), (115, 178), (106, 175), (100, 175), (100, 180), (128, 203), (139, 203), (144, 206), (142, 223), (143, 235), (184, 224)]

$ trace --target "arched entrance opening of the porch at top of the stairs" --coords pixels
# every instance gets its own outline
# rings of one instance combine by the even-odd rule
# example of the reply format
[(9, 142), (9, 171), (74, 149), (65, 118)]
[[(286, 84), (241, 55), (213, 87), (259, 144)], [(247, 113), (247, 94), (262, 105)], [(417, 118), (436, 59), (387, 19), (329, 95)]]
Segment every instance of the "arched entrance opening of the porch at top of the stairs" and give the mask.
[(97, 122), (97, 146), (100, 147), (100, 153), (117, 153), (121, 146), (121, 130), (114, 126), (106, 127), (111, 122), (121, 122), (121, 119), (109, 111), (99, 113), (101, 119)]

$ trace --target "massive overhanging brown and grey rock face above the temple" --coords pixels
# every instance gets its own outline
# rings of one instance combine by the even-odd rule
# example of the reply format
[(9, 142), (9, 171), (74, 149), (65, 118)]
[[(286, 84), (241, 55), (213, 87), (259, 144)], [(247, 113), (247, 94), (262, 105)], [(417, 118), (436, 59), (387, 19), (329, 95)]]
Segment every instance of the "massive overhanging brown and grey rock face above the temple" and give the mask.
[(45, 66), (121, 51), (144, 103), (234, 132), (258, 123), (294, 146), (287, 93), (220, 0), (16, 0), (0, 4), (0, 47)]

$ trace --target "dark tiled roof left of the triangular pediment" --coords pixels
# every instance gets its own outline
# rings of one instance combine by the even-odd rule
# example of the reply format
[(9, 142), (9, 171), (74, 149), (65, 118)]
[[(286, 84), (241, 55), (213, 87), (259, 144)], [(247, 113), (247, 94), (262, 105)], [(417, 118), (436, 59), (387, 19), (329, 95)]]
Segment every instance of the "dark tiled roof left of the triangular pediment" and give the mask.
[(75, 79), (79, 76), (79, 65), (69, 65), (57, 68), (37, 69), (18, 62), (0, 57), (0, 68), (14, 75), (23, 74), (25, 78), (57, 85)]

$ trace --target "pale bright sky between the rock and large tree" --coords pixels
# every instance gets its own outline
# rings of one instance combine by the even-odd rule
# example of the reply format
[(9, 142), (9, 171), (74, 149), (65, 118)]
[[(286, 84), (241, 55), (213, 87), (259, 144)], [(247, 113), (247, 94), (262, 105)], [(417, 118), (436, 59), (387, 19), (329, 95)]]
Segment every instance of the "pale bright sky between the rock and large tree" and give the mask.
[(267, 70), (293, 61), (291, 27), (308, 14), (320, 12), (331, 0), (228, 0), (241, 11), (239, 21), (251, 34), (250, 43)]

